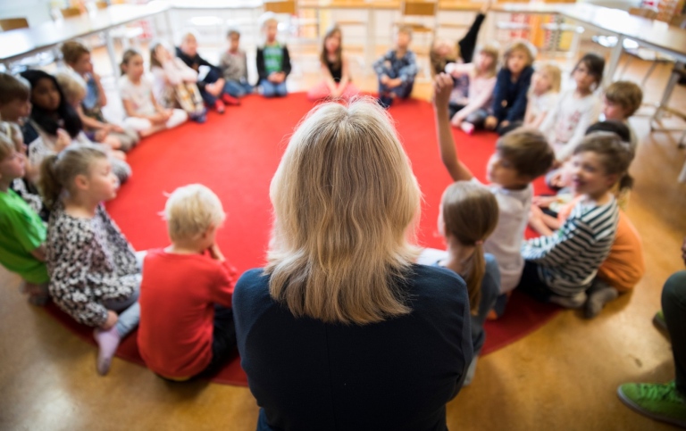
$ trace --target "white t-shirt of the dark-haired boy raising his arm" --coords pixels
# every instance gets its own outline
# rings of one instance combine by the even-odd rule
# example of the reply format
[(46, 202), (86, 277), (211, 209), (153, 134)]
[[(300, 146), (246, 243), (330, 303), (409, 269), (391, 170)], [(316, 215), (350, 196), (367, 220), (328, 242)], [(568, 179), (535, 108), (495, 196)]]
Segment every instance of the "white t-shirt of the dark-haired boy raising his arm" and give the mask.
[[(472, 181), (482, 184), (476, 178)], [(498, 260), (500, 293), (504, 294), (513, 290), (522, 278), (524, 259), (521, 249), (524, 229), (529, 222), (533, 186), (530, 184), (523, 190), (507, 190), (495, 184), (487, 187), (498, 201), (498, 225), (483, 244), (483, 249)]]

